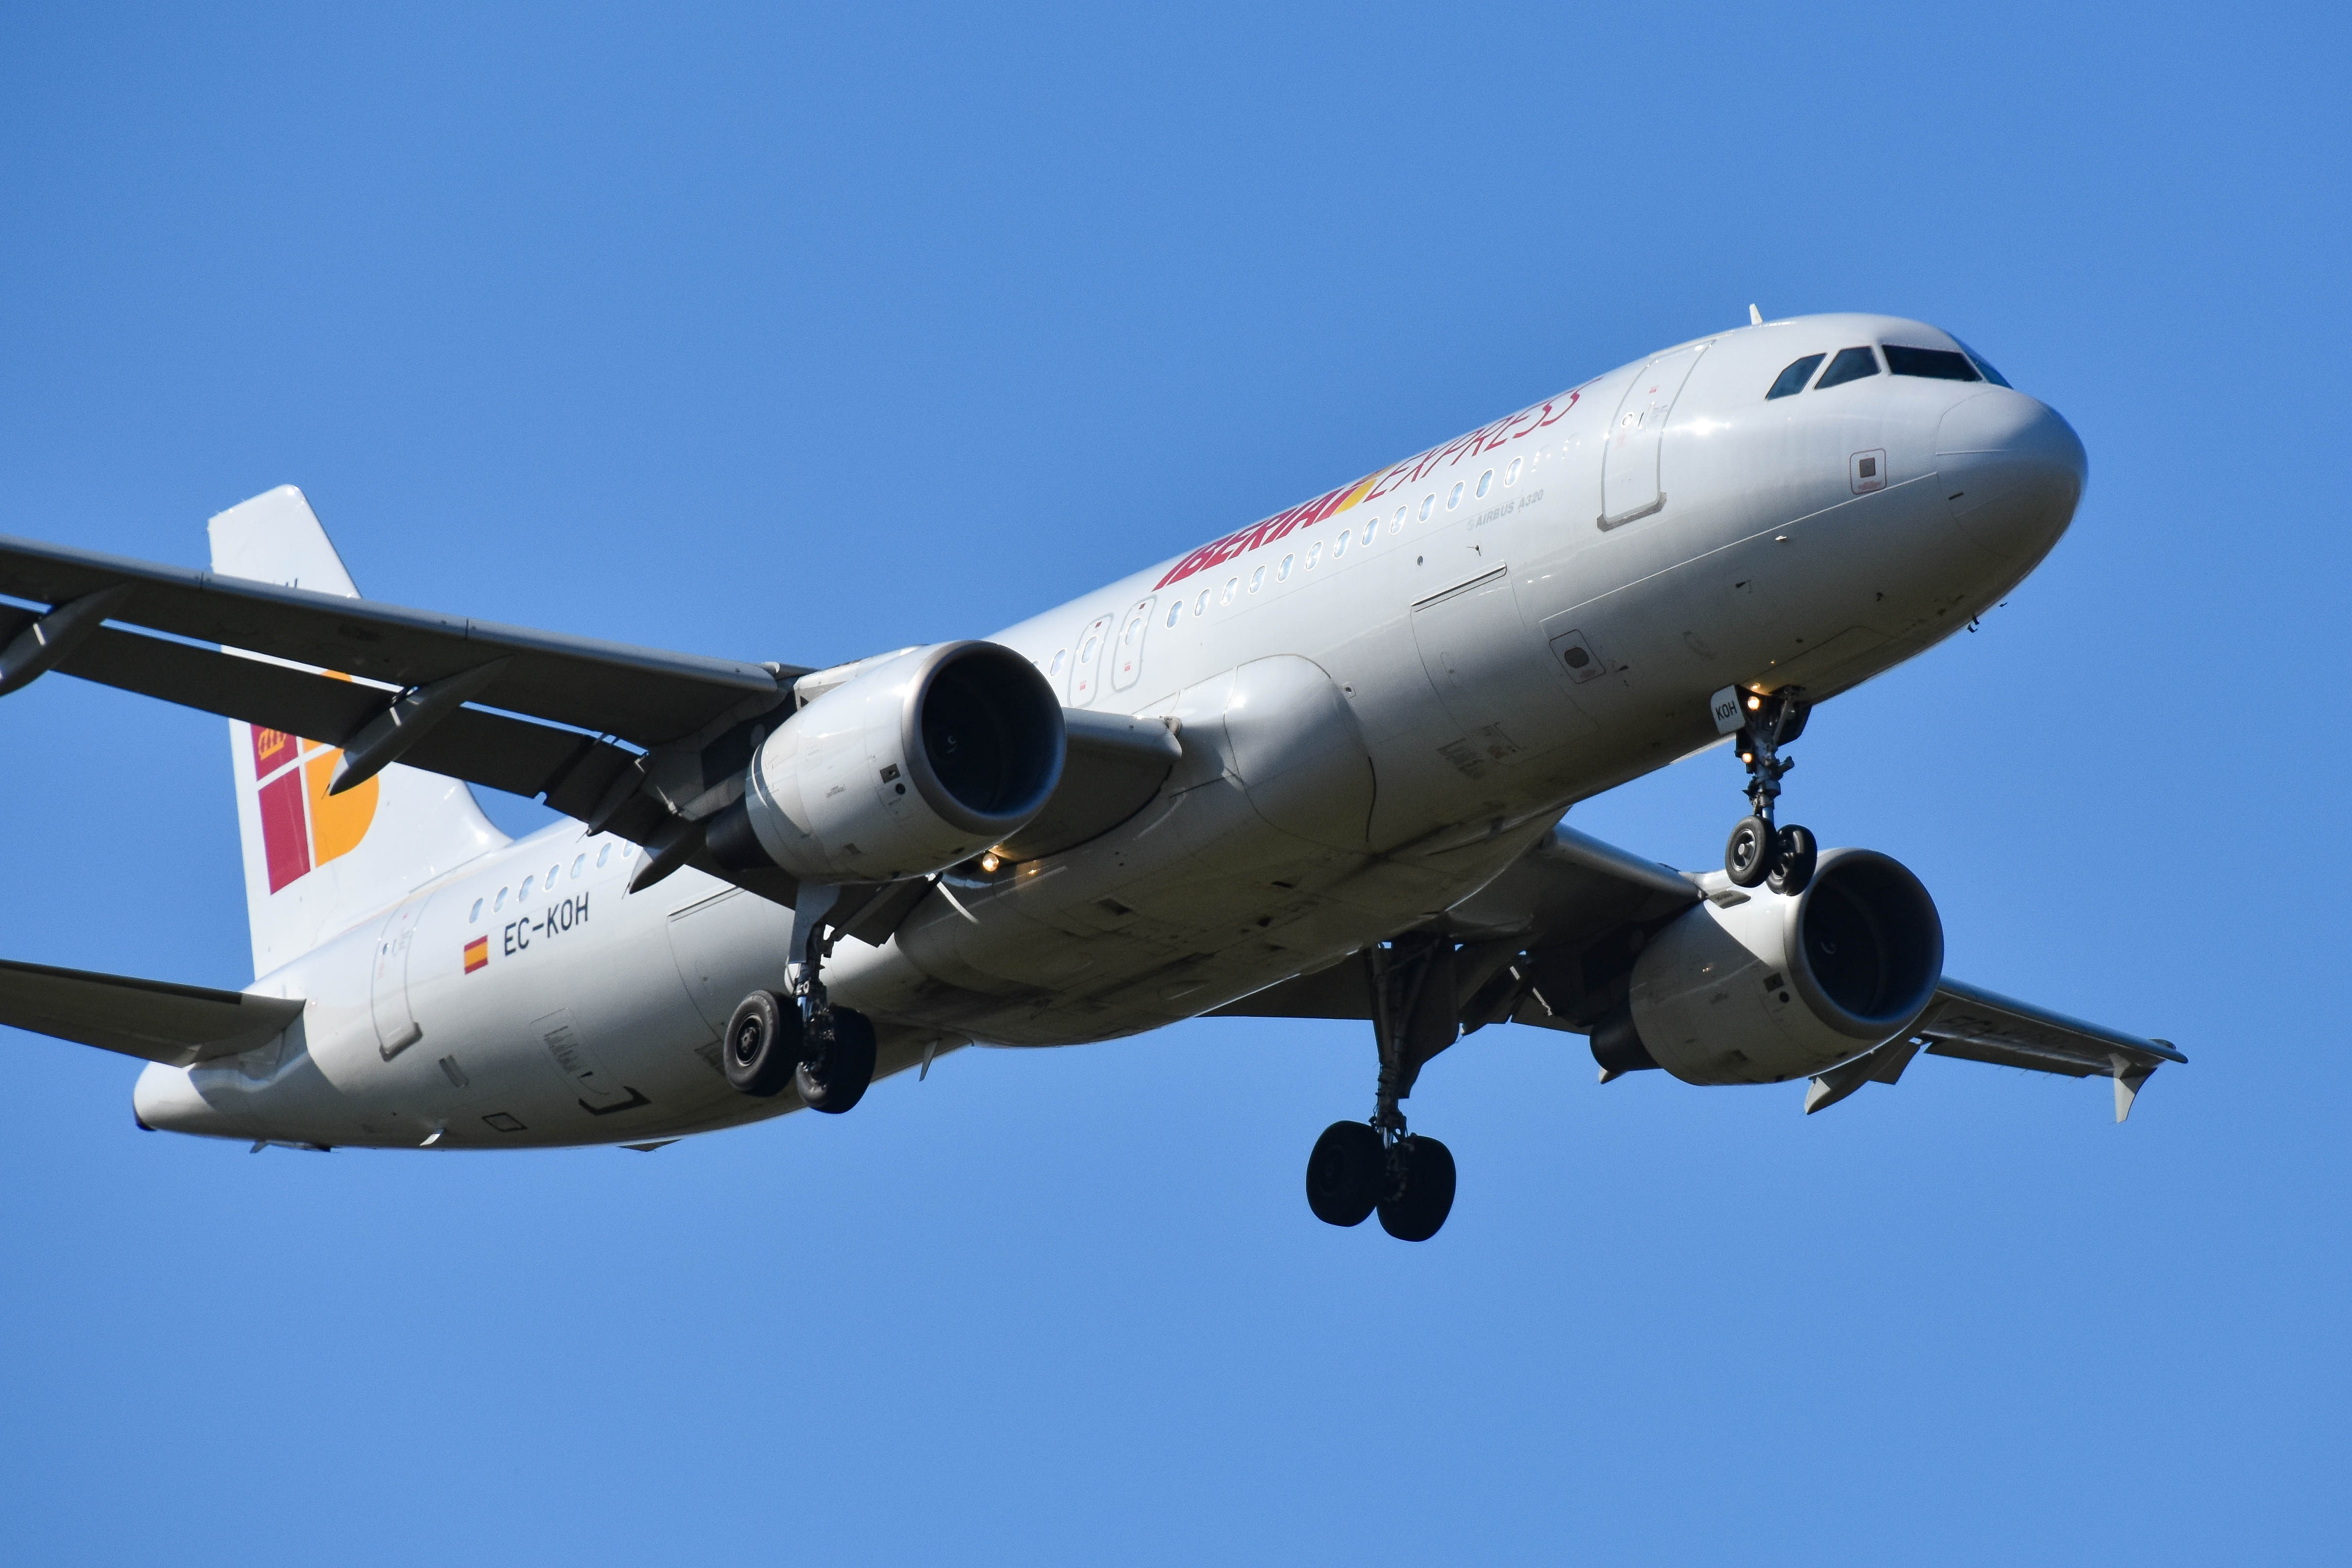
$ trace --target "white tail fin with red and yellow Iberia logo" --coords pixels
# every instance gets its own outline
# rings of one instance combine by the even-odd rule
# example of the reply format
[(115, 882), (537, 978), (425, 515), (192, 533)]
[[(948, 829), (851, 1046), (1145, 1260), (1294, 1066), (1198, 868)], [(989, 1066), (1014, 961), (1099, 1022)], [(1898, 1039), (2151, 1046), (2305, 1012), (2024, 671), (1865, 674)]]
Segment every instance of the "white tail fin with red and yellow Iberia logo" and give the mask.
[[(292, 484), (212, 520), (212, 569), (360, 597), (343, 557)], [(440, 773), (393, 764), (329, 797), (341, 752), (327, 743), (230, 719), (228, 752), (238, 778), (254, 976), (506, 844), (466, 785)]]

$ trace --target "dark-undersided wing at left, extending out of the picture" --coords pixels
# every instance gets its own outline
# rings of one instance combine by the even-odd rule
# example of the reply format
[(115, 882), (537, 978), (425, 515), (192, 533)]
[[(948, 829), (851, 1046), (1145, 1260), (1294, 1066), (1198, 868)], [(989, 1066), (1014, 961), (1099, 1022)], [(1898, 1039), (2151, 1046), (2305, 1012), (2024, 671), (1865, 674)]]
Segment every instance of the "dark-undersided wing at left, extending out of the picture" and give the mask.
[[(409, 766), (543, 795), (637, 839), (699, 795), (703, 773), (746, 762), (746, 722), (807, 675), (5, 536), (0, 595), (52, 607), (0, 607), (0, 691), (56, 668), (350, 755), (374, 726)], [(640, 752), (668, 752), (654, 780), (668, 799), (637, 790)]]

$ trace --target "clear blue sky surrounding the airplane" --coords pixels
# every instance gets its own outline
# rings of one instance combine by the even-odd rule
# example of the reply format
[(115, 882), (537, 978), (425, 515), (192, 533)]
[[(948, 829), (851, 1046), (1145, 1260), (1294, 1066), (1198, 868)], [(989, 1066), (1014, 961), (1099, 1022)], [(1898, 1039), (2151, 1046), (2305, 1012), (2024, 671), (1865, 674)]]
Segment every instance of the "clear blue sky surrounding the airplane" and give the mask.
[[(141, 1135), (0, 1034), (0, 1559), (2333, 1563), (2333, 7), (14, 7), (0, 531), (828, 663), (981, 635), (1649, 348), (1893, 310), (2091, 451), (1790, 811), (2190, 1053), (1599, 1088), (1489, 1030), (1428, 1246), (1369, 1032), (955, 1056), (659, 1154)], [(0, 954), (247, 973), (221, 722), (0, 703)], [(1712, 755), (1578, 809), (1705, 865)], [(536, 806), (492, 802), (508, 825)]]

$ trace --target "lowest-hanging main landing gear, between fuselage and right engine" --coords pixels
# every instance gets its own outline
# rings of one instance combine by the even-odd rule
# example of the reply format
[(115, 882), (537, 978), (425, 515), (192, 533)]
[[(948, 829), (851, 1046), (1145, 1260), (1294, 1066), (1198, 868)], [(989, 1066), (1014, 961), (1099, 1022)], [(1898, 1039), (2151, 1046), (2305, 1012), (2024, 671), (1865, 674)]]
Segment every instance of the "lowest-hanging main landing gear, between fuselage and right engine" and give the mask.
[(1454, 1044), (1454, 945), (1397, 940), (1364, 952), (1381, 1088), (1371, 1121), (1334, 1121), (1308, 1154), (1308, 1208), (1324, 1225), (1362, 1225), (1374, 1213), (1399, 1241), (1428, 1241), (1454, 1211), (1454, 1152), (1404, 1128), (1397, 1100), (1421, 1065)]

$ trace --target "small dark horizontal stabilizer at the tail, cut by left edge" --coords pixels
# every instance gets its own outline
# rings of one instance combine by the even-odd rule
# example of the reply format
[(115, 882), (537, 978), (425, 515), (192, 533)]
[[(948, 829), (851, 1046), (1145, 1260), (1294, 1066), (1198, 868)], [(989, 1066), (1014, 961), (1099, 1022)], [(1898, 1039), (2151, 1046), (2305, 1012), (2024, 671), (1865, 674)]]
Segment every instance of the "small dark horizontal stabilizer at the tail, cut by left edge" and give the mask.
[(287, 997), (0, 959), (0, 1023), (167, 1067), (263, 1046), (301, 1018), (301, 999)]

